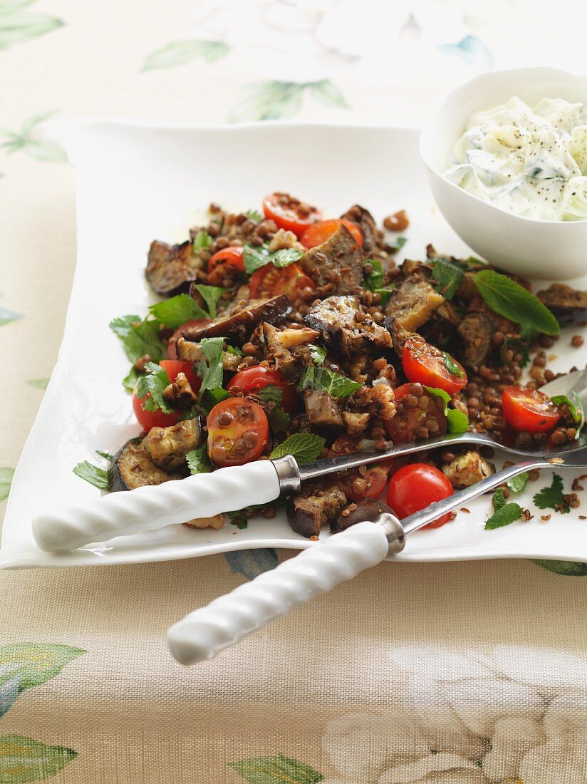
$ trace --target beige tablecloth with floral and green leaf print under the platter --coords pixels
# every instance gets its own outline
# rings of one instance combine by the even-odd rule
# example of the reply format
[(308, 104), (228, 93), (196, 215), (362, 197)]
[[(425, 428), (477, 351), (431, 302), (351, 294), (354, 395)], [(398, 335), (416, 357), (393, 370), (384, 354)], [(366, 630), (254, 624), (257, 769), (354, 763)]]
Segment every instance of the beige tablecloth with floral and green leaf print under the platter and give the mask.
[[(535, 0), (0, 0), (0, 501), (74, 270), (49, 116), (418, 125), (487, 68), (580, 71), (586, 17)], [(382, 564), (215, 662), (172, 661), (170, 622), (289, 555), (0, 574), (0, 784), (587, 782), (582, 564)]]

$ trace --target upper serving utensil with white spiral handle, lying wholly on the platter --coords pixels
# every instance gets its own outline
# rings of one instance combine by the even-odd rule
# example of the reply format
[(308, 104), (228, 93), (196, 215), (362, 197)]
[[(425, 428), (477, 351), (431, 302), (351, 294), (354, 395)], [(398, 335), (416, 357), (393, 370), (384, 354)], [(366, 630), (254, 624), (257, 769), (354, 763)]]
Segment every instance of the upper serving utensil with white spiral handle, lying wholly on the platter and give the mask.
[[(585, 405), (587, 370), (560, 376), (542, 387), (542, 390), (550, 396), (576, 394)], [(561, 452), (569, 456), (571, 452), (583, 448), (587, 445), (587, 436), (582, 435), (560, 448), (549, 442), (537, 441), (524, 446), (503, 445), (487, 434), (480, 433), (446, 434), (426, 441), (393, 445), (382, 452), (355, 452), (302, 466), (292, 455), (274, 460), (258, 460), (245, 466), (220, 468), (212, 474), (194, 474), (181, 481), (147, 485), (132, 492), (113, 492), (91, 504), (49, 510), (34, 517), (33, 537), (37, 546), (45, 552), (71, 550), (91, 543), (106, 542), (116, 536), (155, 531), (169, 524), (185, 523), (194, 517), (213, 517), (222, 512), (270, 503), (283, 492), (298, 491), (306, 479), (368, 463), (379, 463), (382, 459), (440, 446), (452, 448), (460, 444), (491, 446), (515, 455), (531, 456), (542, 461), (542, 466), (544, 461)], [(497, 484), (501, 481), (504, 480), (500, 479)], [(490, 488), (487, 486), (486, 489)]]

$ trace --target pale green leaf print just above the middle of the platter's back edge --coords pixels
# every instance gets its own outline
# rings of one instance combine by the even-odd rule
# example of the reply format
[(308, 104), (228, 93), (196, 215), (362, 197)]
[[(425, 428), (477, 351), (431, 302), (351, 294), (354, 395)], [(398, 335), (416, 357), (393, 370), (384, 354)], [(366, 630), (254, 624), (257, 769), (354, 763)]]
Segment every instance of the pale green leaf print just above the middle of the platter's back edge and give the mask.
[(248, 85), (248, 91), (248, 97), (230, 111), (228, 122), (295, 117), (306, 94), (324, 106), (348, 108), (342, 93), (328, 79), (321, 82), (255, 82)]

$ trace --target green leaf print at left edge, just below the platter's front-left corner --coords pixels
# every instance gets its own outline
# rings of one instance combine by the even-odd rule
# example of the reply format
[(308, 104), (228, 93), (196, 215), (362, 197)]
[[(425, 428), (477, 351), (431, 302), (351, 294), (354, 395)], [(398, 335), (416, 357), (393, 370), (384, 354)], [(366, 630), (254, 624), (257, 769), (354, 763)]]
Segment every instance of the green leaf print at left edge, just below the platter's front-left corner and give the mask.
[[(0, 666), (16, 668), (20, 674), (19, 691), (24, 691), (50, 681), (82, 653), (85, 653), (83, 648), (73, 648), (71, 645), (17, 642), (0, 645)], [(0, 782), (3, 782), (1, 775)]]

